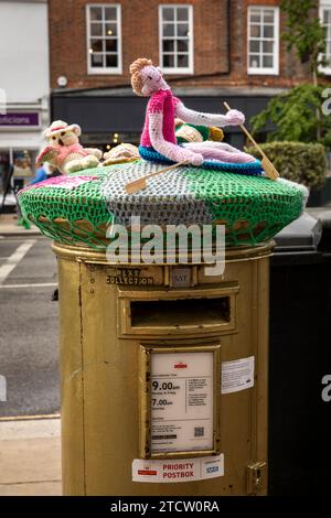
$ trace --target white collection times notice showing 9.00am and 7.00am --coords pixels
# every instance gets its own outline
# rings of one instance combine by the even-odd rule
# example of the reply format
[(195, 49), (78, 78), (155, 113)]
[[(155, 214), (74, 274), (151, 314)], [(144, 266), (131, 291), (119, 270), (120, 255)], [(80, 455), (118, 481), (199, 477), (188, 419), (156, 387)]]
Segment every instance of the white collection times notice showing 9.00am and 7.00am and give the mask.
[(151, 355), (151, 453), (212, 450), (212, 352)]

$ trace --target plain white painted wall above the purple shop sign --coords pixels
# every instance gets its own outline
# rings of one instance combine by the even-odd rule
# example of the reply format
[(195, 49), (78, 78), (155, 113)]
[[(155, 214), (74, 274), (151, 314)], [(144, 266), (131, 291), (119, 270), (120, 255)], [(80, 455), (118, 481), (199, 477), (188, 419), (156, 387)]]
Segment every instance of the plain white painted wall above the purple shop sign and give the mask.
[(50, 90), (47, 2), (0, 0), (0, 89), (7, 102), (35, 102)]

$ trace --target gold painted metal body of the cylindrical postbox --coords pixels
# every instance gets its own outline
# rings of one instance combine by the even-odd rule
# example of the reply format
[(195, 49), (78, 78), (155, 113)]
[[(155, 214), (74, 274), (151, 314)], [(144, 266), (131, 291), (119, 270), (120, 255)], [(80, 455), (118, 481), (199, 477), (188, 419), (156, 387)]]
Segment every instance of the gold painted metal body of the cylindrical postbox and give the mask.
[[(271, 244), (266, 244), (228, 250), (226, 268), (220, 277), (206, 277), (203, 265), (189, 266), (194, 285), (178, 288), (170, 285), (175, 267), (111, 266), (104, 252), (53, 245), (60, 278), (64, 494), (247, 495), (247, 465), (256, 460), (267, 462), (271, 248)], [(129, 315), (122, 310), (126, 301), (152, 303), (156, 293), (167, 300), (185, 300), (193, 291), (205, 299), (216, 292), (232, 296), (233, 327), (205, 326), (203, 331), (191, 328), (192, 332), (170, 335), (159, 327), (154, 335), (149, 328), (146, 335), (131, 334)], [(194, 317), (192, 313), (192, 325)], [(169, 348), (218, 343), (221, 361), (255, 356), (254, 387), (220, 397), (223, 477), (180, 484), (132, 482), (131, 463), (141, 453), (139, 428), (143, 398), (139, 357), (142, 343)], [(266, 479), (264, 475), (258, 494), (266, 493)]]

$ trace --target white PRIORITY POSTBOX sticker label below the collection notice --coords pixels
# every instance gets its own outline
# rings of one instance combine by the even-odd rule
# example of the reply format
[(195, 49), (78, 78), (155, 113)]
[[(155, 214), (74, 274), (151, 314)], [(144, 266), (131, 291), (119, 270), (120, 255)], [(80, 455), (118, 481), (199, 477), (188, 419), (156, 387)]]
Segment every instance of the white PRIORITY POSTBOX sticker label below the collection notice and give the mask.
[(132, 481), (179, 483), (224, 476), (224, 454), (181, 460), (142, 460), (132, 462)]

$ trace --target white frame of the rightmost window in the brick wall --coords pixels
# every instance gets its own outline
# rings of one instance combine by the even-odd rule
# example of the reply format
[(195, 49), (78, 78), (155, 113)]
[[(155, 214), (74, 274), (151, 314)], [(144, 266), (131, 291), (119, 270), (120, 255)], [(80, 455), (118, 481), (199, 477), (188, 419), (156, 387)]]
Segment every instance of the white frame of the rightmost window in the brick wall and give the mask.
[[(253, 10), (273, 10), (274, 11), (274, 66), (273, 67), (253, 67), (249, 66), (249, 56), (254, 54), (249, 52), (250, 37), (250, 11)], [(248, 75), (263, 75), (263, 76), (278, 76), (279, 75), (279, 6), (260, 6), (249, 4), (247, 9), (247, 74)], [(254, 39), (253, 39), (254, 40)]]

